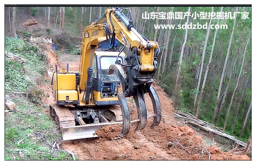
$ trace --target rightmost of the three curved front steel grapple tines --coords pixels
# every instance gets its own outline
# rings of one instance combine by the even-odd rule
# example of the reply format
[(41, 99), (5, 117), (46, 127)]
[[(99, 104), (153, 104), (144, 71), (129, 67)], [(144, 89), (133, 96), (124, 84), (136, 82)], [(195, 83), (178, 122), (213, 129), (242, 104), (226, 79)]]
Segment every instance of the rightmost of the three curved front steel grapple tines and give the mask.
[(154, 127), (154, 126), (157, 126), (161, 121), (161, 105), (160, 105), (160, 101), (159, 101), (158, 95), (157, 95), (154, 87), (150, 87), (148, 94), (152, 101), (154, 114), (156, 115), (154, 117), (153, 124), (150, 126), (150, 127)]

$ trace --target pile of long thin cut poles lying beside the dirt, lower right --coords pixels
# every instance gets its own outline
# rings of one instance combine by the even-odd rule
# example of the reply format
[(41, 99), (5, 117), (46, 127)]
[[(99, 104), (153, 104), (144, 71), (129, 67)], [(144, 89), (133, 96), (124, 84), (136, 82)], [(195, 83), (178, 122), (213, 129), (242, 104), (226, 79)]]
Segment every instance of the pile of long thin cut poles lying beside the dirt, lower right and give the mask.
[[(216, 133), (216, 134), (218, 134), (220, 136), (226, 137), (226, 138), (236, 142), (240, 146), (248, 147), (247, 143), (242, 142), (242, 141), (236, 139), (234, 136), (226, 134), (219, 127), (216, 127), (215, 125), (212, 125), (212, 124), (210, 124), (210, 123), (208, 123), (206, 121), (202, 121), (202, 120), (196, 118), (195, 116), (191, 115), (190, 113), (186, 114), (184, 112), (181, 112), (181, 111), (178, 111), (178, 110), (174, 110), (173, 117), (186, 120), (187, 122), (189, 122), (191, 124), (194, 124), (194, 125), (197, 125), (197, 126), (199, 126), (200, 128), (202, 128), (202, 129), (204, 129), (206, 131), (210, 131), (210, 132)], [(247, 149), (247, 150), (249, 152), (251, 152), (252, 151), (252, 147), (250, 146), (249, 149)]]

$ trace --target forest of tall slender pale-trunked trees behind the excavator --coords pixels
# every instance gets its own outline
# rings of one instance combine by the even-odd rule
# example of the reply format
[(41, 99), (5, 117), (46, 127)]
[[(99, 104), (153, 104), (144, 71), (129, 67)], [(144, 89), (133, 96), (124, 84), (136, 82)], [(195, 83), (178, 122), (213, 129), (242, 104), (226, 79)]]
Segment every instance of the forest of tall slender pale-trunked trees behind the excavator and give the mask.
[[(129, 7), (129, 6), (127, 6)], [(5, 29), (37, 18), (49, 29), (81, 38), (83, 29), (111, 7), (5, 7)], [(243, 141), (251, 136), (251, 7), (130, 7), (135, 29), (157, 41), (155, 83), (176, 109), (192, 113)], [(143, 19), (145, 12), (249, 12), (234, 19)], [(25, 15), (24, 15), (25, 14)], [(127, 13), (128, 14), (128, 13)], [(227, 29), (155, 29), (157, 24), (227, 24)], [(68, 41), (67, 41), (68, 42)], [(79, 45), (78, 42), (76, 45)], [(70, 45), (72, 47), (74, 45)]]

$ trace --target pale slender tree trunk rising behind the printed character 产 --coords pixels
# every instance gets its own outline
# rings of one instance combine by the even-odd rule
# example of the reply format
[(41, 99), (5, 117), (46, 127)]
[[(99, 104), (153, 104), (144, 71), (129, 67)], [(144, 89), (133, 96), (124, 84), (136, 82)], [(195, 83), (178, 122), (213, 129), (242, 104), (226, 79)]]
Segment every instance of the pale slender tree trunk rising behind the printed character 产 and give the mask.
[[(190, 7), (188, 9), (188, 13), (190, 12)], [(189, 22), (189, 16), (187, 16), (187, 25)], [(177, 73), (177, 79), (176, 79), (176, 84), (175, 84), (175, 89), (174, 89), (174, 100), (176, 99), (176, 95), (177, 95), (177, 90), (178, 90), (178, 83), (179, 83), (179, 78), (180, 78), (180, 71), (181, 71), (181, 64), (182, 64), (182, 57), (183, 57), (183, 52), (184, 52), (184, 47), (186, 45), (187, 42), (187, 36), (188, 36), (188, 28), (186, 28), (186, 32), (185, 32), (185, 40), (184, 43), (182, 44), (182, 48), (181, 48), (181, 55), (180, 55), (180, 60), (179, 60), (179, 68), (178, 68), (178, 73)], [(176, 100), (175, 100), (176, 101)]]

